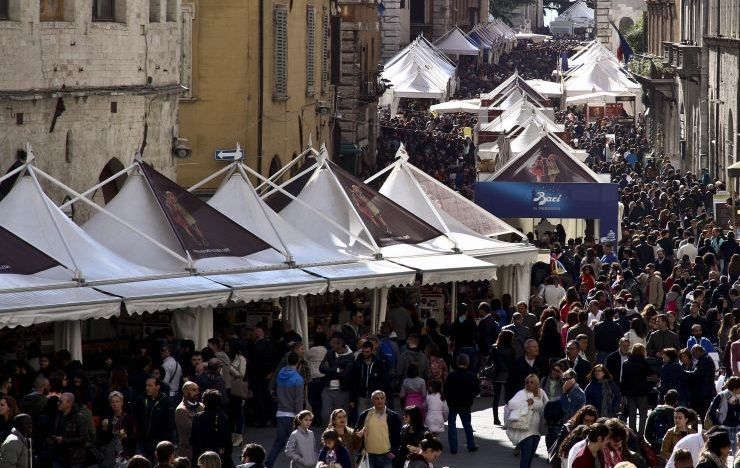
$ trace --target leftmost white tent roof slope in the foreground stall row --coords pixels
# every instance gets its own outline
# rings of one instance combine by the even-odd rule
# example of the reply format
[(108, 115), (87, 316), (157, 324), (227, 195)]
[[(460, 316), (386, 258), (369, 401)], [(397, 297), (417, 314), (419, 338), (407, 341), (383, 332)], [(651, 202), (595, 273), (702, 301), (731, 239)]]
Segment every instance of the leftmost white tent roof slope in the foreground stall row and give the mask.
[(19, 178), (0, 201), (0, 225), (69, 269), (44, 270), (37, 273), (39, 277), (69, 281), (77, 269), (88, 282), (166, 273), (129, 261), (103, 246), (69, 219), (28, 176)]

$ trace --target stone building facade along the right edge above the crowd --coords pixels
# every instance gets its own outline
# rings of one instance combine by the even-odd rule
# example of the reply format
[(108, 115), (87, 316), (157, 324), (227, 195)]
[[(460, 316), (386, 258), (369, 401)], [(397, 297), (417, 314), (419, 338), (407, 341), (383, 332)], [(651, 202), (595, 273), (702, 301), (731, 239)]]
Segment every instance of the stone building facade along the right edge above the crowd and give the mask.
[(724, 179), (740, 144), (740, 0), (676, 1), (649, 4), (649, 52), (673, 74), (651, 111), (663, 121), (663, 153), (674, 164)]

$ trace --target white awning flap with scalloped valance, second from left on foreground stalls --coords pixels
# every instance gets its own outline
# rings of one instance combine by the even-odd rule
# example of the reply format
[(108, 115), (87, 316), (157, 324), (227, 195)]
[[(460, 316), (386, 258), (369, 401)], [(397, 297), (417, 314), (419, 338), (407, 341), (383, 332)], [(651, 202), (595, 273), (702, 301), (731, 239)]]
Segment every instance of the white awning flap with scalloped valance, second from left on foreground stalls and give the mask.
[(96, 289), (123, 299), (131, 314), (225, 304), (231, 289), (200, 276), (105, 284)]

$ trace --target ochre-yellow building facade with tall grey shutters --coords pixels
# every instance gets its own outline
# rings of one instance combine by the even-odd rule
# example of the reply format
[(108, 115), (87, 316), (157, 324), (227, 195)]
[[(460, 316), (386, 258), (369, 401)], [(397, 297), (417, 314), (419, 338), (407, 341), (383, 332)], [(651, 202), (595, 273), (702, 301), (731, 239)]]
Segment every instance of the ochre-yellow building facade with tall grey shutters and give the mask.
[[(245, 163), (274, 174), (310, 139), (334, 147), (333, 51), (339, 11), (330, 0), (183, 0), (182, 137), (192, 157), (178, 182), (190, 186), (224, 166), (219, 149), (239, 143)], [(186, 84), (187, 86), (187, 84)], [(201, 187), (213, 193), (219, 180)]]

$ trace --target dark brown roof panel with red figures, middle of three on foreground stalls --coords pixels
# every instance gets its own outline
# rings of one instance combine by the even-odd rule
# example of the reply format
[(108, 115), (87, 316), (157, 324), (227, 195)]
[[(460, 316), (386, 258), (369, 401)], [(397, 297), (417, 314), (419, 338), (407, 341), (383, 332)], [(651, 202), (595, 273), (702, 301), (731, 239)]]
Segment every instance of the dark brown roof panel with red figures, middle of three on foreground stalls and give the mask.
[(142, 162), (141, 168), (180, 245), (194, 259), (244, 257), (271, 247), (149, 164)]

